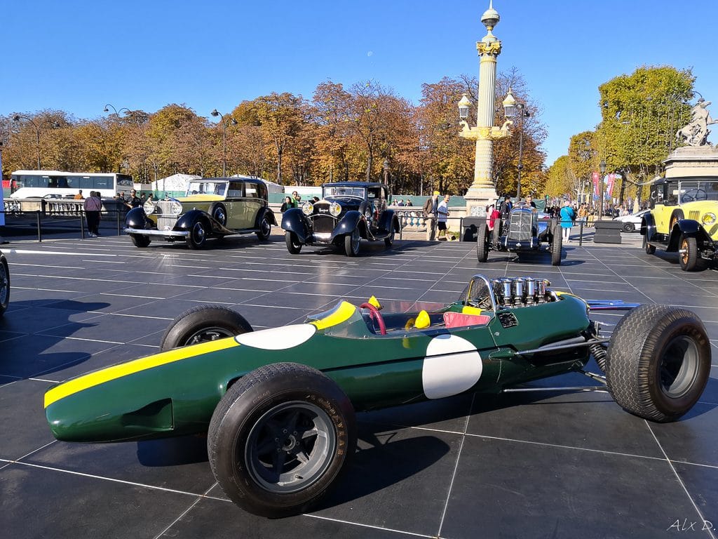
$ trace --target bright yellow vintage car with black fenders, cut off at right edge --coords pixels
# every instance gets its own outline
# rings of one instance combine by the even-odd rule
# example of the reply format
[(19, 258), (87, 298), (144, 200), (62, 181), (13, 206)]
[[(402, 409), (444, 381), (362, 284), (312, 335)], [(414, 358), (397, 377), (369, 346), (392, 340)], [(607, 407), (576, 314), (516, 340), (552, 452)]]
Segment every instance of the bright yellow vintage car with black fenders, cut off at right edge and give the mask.
[(651, 184), (651, 211), (640, 225), (645, 252), (678, 252), (681, 270), (716, 262), (718, 178), (658, 178)]

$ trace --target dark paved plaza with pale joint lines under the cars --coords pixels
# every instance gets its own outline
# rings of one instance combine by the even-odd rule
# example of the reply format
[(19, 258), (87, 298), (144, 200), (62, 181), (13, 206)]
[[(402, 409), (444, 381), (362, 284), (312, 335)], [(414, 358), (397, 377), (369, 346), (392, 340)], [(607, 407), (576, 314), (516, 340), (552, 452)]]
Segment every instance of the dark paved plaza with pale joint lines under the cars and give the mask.
[[(275, 229), (277, 232), (278, 229)], [(634, 237), (638, 237), (636, 234)], [(210, 249), (123, 236), (2, 246), (11, 304), (0, 321), (0, 530), (7, 538), (659, 538), (718, 528), (718, 272), (681, 272), (637, 241), (577, 242), (564, 261), (519, 264), (462, 242), (362, 242), (361, 256), (284, 238)], [(605, 392), (463, 395), (358, 415), (359, 451), (314, 512), (248, 515), (219, 489), (202, 436), (143, 443), (54, 441), (52, 382), (158, 350), (178, 313), (221, 303), (255, 328), (302, 321), (340, 298), (388, 310), (457, 298), (475, 273), (549, 279), (587, 299), (691, 308), (712, 339), (707, 390), (677, 423), (629, 415)], [(615, 323), (621, 313), (594, 318)], [(609, 328), (610, 329), (610, 328)], [(590, 369), (596, 371), (594, 364)], [(537, 387), (589, 385), (579, 374)], [(709, 523), (704, 523), (704, 520)], [(676, 523), (679, 526), (676, 526)], [(692, 524), (692, 527), (691, 527)]]

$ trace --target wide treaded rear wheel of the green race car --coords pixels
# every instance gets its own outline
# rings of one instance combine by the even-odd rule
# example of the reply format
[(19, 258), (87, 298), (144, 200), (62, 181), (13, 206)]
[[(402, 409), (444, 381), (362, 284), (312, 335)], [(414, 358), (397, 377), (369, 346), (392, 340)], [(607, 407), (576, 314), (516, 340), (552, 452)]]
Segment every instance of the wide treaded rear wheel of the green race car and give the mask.
[(706, 387), (710, 346), (703, 323), (690, 310), (641, 305), (621, 318), (611, 336), (608, 390), (633, 415), (676, 420)]

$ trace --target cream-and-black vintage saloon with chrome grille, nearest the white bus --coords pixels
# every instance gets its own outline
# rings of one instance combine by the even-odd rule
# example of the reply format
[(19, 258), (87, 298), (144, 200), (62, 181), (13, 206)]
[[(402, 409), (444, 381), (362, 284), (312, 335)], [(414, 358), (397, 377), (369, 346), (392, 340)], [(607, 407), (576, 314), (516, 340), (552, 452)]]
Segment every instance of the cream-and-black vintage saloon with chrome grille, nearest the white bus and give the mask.
[(256, 234), (269, 239), (274, 213), (267, 188), (258, 178), (202, 178), (192, 180), (180, 198), (148, 201), (127, 213), (125, 232), (136, 247), (152, 238), (187, 241), (190, 249), (205, 247), (208, 238)]

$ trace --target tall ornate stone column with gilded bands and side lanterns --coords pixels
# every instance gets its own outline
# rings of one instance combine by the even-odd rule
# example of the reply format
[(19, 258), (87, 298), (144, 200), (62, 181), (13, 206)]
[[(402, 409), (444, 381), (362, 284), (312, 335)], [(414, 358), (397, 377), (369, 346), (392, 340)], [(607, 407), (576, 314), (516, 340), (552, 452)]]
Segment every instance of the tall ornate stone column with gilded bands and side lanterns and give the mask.
[[(499, 22), (499, 14), (493, 9), (493, 0), (481, 16), (481, 22), (488, 30), (480, 42), (476, 43), (479, 52), (479, 93), (476, 103), (476, 126), (467, 123), (471, 101), (464, 95), (459, 101), (459, 116), (462, 130), (460, 137), (476, 141), (474, 163), (474, 181), (465, 195), (467, 214), (480, 216), (488, 201), (496, 199), (496, 188), (493, 183), (492, 146), (496, 139), (503, 139), (510, 134), (510, 120), (503, 126), (494, 126), (494, 96), (496, 89), (496, 58), (501, 52), (501, 42), (491, 32)], [(504, 103), (506, 106), (506, 103)]]

